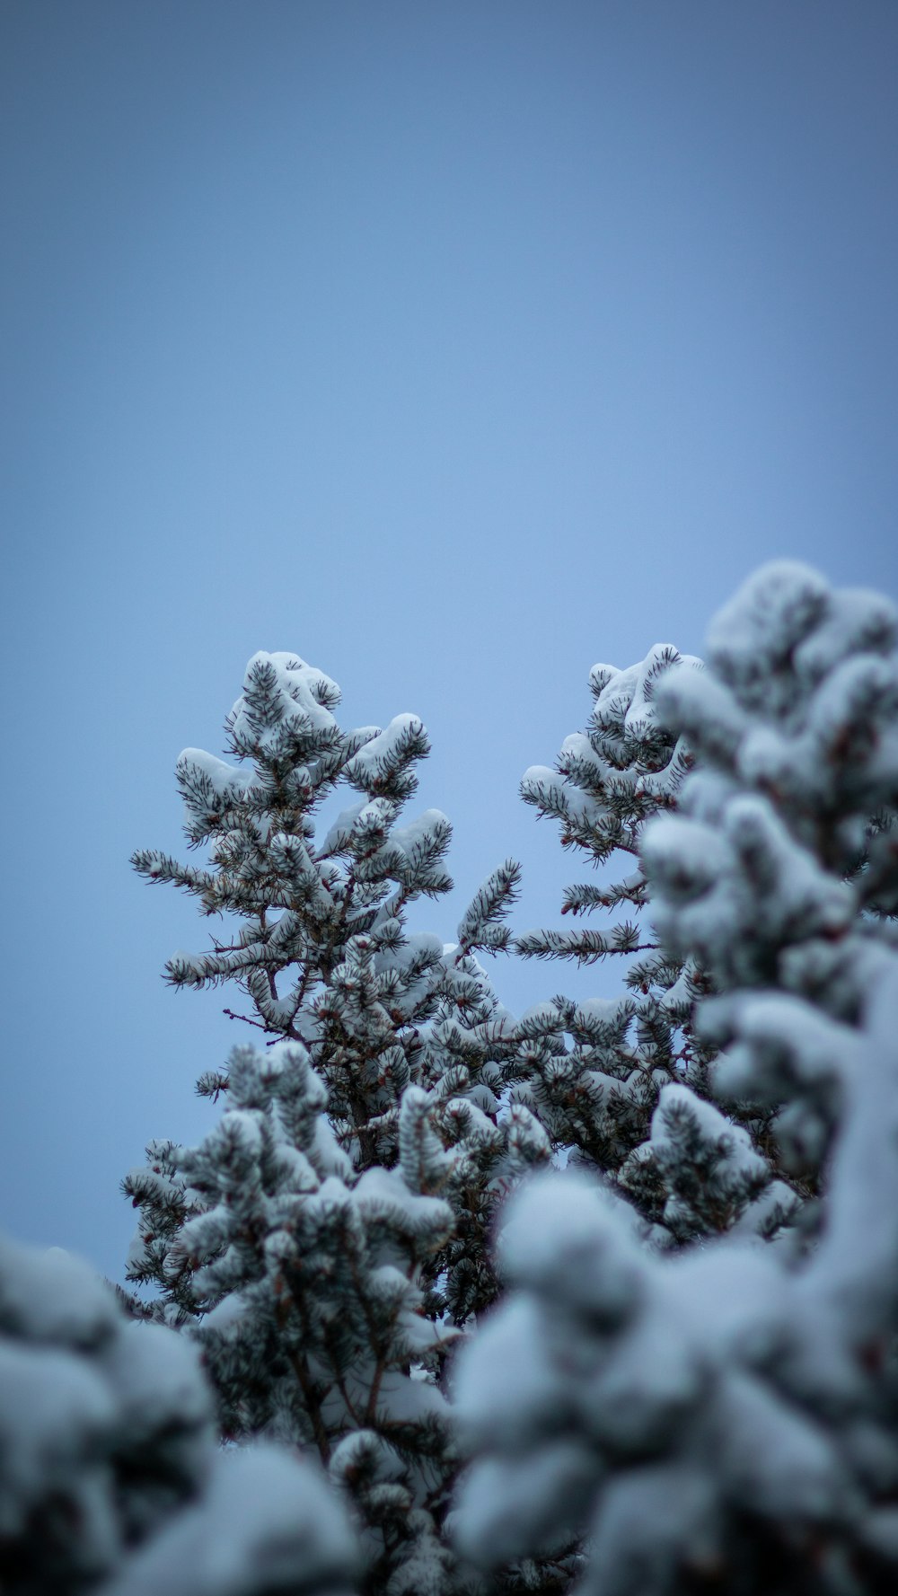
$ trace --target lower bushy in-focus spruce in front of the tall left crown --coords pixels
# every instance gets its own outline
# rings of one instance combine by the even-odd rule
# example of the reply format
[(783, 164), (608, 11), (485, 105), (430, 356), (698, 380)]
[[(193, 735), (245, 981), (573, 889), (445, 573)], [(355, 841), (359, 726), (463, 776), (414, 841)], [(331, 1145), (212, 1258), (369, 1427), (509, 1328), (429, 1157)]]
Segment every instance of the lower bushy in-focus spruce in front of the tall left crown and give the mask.
[(421, 1540), (439, 1551), (451, 1478), (437, 1379), (451, 1331), (419, 1285), (451, 1210), (419, 1191), (442, 1149), (421, 1152), (434, 1133), (405, 1101), (405, 1159), (356, 1173), (306, 1049), (234, 1049), (214, 1130), (152, 1144), (126, 1181), (142, 1205), (129, 1275), (161, 1286), (163, 1317), (195, 1321), (225, 1436), (316, 1452), (356, 1502), (368, 1578), (396, 1590), (413, 1588)]

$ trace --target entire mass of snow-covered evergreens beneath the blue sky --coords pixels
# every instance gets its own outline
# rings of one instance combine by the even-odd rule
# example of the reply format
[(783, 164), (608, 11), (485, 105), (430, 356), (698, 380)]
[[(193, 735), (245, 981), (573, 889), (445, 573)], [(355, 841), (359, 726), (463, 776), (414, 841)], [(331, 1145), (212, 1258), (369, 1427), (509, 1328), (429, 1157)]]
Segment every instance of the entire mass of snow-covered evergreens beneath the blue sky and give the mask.
[[(514, 935), (506, 860), (453, 942), (407, 919), (451, 884), (421, 721), (249, 662), (234, 763), (177, 766), (206, 862), (134, 862), (219, 916), (167, 978), (255, 1045), (126, 1176), (132, 1294), (3, 1245), (3, 1590), (893, 1588), (896, 637), (778, 563), (705, 662), (597, 666), (522, 793), (600, 926)], [(517, 1018), (498, 951), (622, 991)]]

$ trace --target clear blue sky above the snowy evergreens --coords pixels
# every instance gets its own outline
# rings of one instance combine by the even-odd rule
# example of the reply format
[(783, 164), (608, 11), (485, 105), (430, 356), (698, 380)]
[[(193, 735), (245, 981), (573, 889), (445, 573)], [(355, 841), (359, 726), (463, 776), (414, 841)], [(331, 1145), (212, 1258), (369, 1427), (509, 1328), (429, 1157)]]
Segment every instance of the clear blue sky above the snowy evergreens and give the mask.
[(236, 1041), (128, 855), (255, 650), (423, 715), (451, 938), (507, 852), (557, 916), (597, 659), (775, 555), (898, 595), (898, 6), (2, 0), (0, 77), (0, 1224), (121, 1275)]

